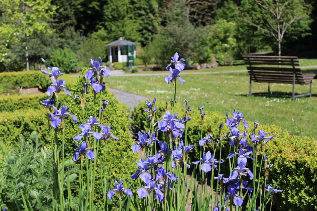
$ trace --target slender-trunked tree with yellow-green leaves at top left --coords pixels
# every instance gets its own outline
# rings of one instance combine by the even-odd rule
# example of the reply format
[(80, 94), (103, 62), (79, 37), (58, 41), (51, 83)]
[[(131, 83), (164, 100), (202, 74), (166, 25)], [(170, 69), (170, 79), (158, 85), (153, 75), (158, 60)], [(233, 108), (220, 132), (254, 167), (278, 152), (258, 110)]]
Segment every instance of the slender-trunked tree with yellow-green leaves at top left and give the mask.
[(29, 71), (28, 41), (36, 33), (51, 33), (48, 21), (56, 7), (49, 0), (2, 0), (0, 37), (13, 43), (23, 42), (26, 69)]

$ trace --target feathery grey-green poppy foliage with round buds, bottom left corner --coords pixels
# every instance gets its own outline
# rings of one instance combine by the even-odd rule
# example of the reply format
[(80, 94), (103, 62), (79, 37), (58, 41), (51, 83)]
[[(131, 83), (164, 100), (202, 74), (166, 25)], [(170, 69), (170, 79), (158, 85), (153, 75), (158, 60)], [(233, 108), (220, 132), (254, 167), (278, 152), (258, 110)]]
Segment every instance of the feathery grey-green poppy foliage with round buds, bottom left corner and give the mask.
[(38, 208), (36, 199), (30, 195), (36, 191), (43, 208), (50, 208), (52, 153), (38, 143), (37, 137), (24, 140), (21, 135), (20, 144), (13, 147), (0, 166), (0, 204), (5, 204), (10, 210), (23, 209), (22, 191), (32, 207)]

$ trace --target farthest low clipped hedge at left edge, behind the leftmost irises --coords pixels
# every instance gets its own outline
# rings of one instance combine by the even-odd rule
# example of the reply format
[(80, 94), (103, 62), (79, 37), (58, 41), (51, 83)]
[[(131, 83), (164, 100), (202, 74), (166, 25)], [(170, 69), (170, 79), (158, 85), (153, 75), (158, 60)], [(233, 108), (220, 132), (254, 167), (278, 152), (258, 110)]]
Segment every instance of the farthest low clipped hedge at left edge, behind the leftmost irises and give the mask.
[(0, 73), (0, 84), (3, 83), (12, 84), (16, 88), (39, 87), (43, 90), (50, 85), (47, 75), (40, 71)]

